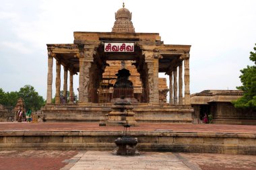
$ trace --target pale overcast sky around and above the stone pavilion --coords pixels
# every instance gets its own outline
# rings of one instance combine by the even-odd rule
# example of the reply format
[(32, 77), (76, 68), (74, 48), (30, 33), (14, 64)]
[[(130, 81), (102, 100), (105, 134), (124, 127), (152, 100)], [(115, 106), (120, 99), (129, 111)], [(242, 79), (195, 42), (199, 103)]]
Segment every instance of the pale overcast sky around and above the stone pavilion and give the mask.
[[(0, 0), (0, 88), (32, 85), (45, 99), (46, 44), (71, 44), (76, 31), (111, 32), (122, 3)], [(125, 0), (125, 7), (133, 13), (135, 32), (158, 32), (164, 44), (191, 45), (191, 93), (236, 89), (240, 70), (253, 65), (255, 0)], [(77, 76), (74, 81), (77, 88)]]

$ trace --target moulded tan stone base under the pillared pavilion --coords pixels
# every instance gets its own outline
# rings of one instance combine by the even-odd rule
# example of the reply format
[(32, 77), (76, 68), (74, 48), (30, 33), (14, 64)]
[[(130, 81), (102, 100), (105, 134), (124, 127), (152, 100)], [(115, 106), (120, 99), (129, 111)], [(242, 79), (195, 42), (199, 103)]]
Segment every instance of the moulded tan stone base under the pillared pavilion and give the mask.
[[(45, 122), (100, 122), (111, 112), (111, 103), (47, 104), (42, 107)], [(133, 104), (136, 122), (191, 123), (193, 108), (189, 105)]]

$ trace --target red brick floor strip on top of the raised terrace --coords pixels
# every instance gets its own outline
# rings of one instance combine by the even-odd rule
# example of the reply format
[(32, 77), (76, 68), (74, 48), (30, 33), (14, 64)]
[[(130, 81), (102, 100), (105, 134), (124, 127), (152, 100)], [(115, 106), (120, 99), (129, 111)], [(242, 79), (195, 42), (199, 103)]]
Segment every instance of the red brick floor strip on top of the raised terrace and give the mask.
[[(55, 123), (27, 123), (27, 122), (1, 122), (0, 130), (95, 130), (95, 131), (123, 131), (121, 126), (99, 126), (98, 123), (86, 122), (55, 122)], [(234, 132), (256, 133), (256, 126), (229, 125), (229, 124), (150, 124), (139, 123), (131, 127), (131, 131), (173, 130), (176, 132)]]

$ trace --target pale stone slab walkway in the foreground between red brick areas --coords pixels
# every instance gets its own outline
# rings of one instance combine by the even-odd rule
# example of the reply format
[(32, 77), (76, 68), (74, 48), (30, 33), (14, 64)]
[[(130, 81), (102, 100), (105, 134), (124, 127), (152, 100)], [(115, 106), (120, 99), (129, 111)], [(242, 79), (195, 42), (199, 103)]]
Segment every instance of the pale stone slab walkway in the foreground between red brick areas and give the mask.
[[(80, 159), (74, 157), (76, 163), (67, 165), (61, 170), (100, 170), (100, 169), (161, 169), (161, 170), (188, 170), (193, 167), (200, 169), (195, 163), (185, 164), (172, 153), (141, 153), (140, 156), (112, 155), (107, 151), (84, 151), (78, 154)], [(72, 166), (73, 165), (73, 166)], [(191, 166), (191, 167), (189, 167)]]

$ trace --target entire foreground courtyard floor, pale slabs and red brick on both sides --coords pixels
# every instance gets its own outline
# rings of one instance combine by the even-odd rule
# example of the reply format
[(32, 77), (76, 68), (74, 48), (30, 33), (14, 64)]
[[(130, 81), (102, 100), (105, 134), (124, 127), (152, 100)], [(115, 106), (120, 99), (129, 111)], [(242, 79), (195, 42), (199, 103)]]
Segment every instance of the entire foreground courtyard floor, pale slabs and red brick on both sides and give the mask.
[(205, 153), (112, 155), (110, 151), (0, 151), (0, 170), (255, 170), (256, 156)]

